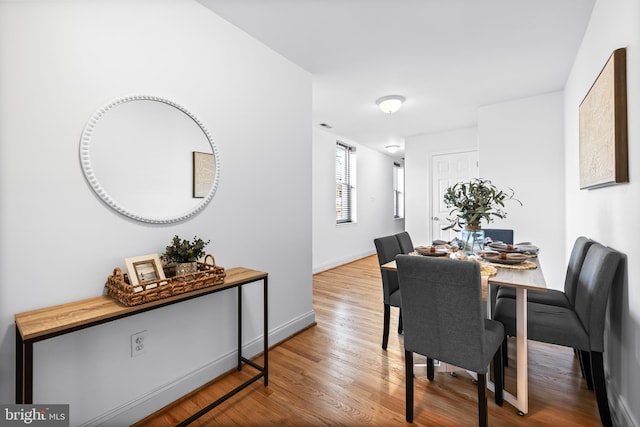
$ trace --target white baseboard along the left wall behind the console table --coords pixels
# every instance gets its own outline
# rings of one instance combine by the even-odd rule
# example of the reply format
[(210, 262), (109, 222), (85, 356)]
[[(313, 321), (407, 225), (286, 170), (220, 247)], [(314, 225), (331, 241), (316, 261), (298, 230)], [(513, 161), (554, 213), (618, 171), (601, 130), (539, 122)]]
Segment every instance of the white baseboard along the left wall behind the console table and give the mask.
[[(286, 323), (277, 329), (269, 332), (269, 344), (273, 346), (287, 338), (295, 335), (299, 331), (315, 324), (315, 312), (310, 311), (297, 319)], [(251, 358), (260, 354), (263, 350), (262, 339), (253, 340), (242, 347), (244, 357)], [(237, 353), (229, 352), (202, 366), (189, 374), (176, 379), (168, 384), (150, 390), (145, 395), (121, 405), (117, 408), (105, 412), (89, 421), (81, 424), (82, 427), (93, 427), (102, 425), (131, 425), (144, 417), (154, 413), (164, 406), (178, 400), (185, 394), (210, 382), (220, 375), (234, 369), (237, 364)], [(252, 369), (252, 368), (248, 368)]]

